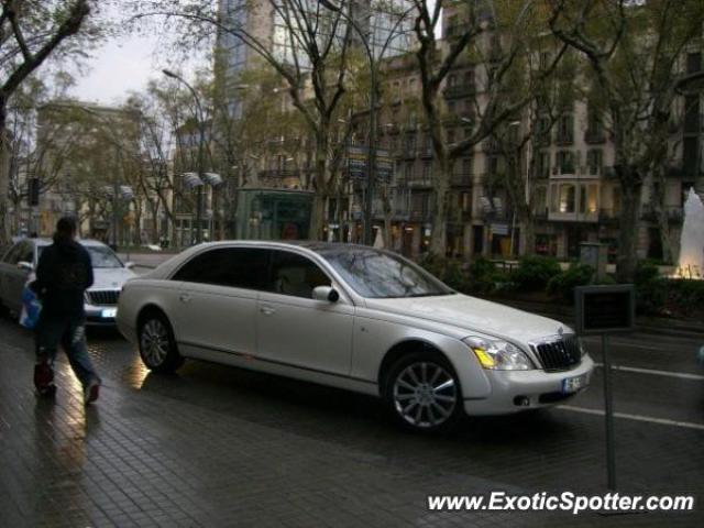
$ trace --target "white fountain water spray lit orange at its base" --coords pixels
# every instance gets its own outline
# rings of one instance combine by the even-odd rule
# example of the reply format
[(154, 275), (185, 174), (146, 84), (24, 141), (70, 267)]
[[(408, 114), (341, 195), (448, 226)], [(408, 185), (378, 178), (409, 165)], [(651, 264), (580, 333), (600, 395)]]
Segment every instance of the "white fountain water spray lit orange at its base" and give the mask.
[(704, 278), (704, 204), (694, 188), (690, 189), (684, 202), (676, 277)]

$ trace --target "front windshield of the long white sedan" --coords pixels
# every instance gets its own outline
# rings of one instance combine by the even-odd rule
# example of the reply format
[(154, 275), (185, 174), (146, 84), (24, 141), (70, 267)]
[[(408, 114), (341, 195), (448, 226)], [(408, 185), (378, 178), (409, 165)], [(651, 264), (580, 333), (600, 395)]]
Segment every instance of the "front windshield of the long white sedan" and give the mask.
[(321, 252), (330, 265), (362, 297), (388, 299), (453, 295), (454, 292), (406, 258), (369, 250)]

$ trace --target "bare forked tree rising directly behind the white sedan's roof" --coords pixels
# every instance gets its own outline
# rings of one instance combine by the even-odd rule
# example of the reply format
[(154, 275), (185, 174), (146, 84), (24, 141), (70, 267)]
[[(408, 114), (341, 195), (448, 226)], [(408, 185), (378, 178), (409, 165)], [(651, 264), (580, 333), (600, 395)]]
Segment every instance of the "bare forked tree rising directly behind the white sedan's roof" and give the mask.
[[(230, 16), (219, 16), (212, 2), (189, 2), (187, 9), (170, 1), (142, 2), (139, 18), (160, 15), (169, 31), (178, 34), (212, 35), (213, 30), (232, 35), (249, 46), (279, 76), (308, 129), (312, 146), (312, 186), (316, 191), (311, 218), (311, 235), (321, 238), (323, 212), (328, 197), (339, 176), (331, 163), (331, 130), (346, 91), (348, 57), (352, 26), (344, 23), (340, 11), (331, 11), (310, 0), (270, 0), (256, 12), (249, 2), (235, 8)], [(352, 9), (351, 6), (348, 7)], [(240, 22), (237, 10), (248, 10), (250, 18), (274, 16), (284, 28), (282, 40), (256, 35)]]

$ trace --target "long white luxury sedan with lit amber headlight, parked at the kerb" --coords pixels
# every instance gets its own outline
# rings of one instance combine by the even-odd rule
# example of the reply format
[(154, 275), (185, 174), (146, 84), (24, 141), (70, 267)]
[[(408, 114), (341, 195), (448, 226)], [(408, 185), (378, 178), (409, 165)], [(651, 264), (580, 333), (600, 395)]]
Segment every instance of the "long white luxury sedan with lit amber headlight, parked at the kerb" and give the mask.
[(153, 371), (194, 358), (372, 394), (418, 430), (564, 402), (594, 367), (560, 322), (351, 244), (200, 244), (127, 283), (117, 321)]

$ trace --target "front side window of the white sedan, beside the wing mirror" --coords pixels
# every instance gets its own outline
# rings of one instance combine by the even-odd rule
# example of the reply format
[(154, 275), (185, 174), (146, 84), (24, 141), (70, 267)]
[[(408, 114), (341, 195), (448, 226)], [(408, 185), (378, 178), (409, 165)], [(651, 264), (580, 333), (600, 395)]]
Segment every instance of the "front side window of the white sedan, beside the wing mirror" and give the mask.
[(309, 258), (287, 251), (273, 252), (270, 292), (310, 299), (316, 287), (330, 285), (330, 277)]

